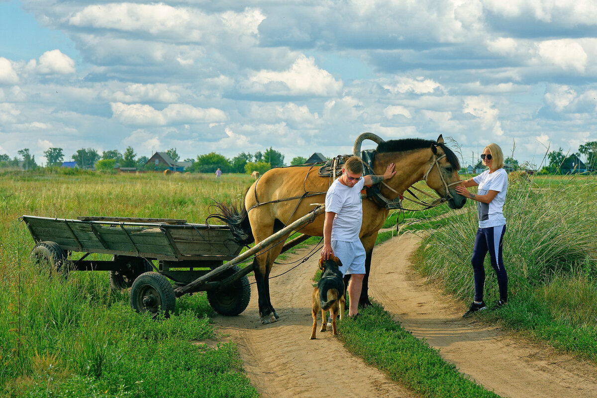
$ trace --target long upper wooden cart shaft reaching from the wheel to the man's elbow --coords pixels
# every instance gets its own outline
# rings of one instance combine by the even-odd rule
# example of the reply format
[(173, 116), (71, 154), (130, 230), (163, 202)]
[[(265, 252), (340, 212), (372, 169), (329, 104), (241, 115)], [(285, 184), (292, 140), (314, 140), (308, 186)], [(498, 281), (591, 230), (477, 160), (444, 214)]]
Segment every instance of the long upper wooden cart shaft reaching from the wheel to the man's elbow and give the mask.
[[(174, 289), (174, 294), (176, 295), (176, 297), (180, 297), (183, 294), (197, 291), (197, 289), (201, 288), (201, 285), (204, 285), (205, 283), (210, 282), (210, 280), (214, 279), (215, 277), (219, 276), (220, 274), (226, 272), (227, 270), (232, 269), (232, 267), (235, 266), (236, 264), (242, 263), (243, 261), (247, 260), (247, 258), (249, 258), (253, 255), (259, 254), (259, 252), (262, 249), (267, 248), (267, 246), (269, 246), (269, 245), (272, 245), (272, 243), (275, 243), (276, 240), (279, 240), (281, 237), (288, 235), (289, 233), (296, 230), (298, 227), (301, 227), (305, 224), (312, 223), (313, 220), (315, 220), (315, 218), (319, 214), (322, 214), (324, 211), (325, 211), (325, 206), (319, 205), (312, 212), (309, 212), (307, 215), (304, 215), (303, 217), (294, 221), (294, 223), (291, 223), (287, 227), (282, 228), (281, 230), (279, 230), (272, 236), (269, 236), (266, 239), (261, 240), (261, 242), (257, 243), (257, 245), (248, 249), (244, 253), (236, 256), (233, 260), (228, 261), (223, 266), (217, 267), (216, 269), (205, 274), (204, 276), (201, 276), (198, 279), (193, 280), (193, 282), (189, 283), (186, 286), (180, 286), (179, 288)], [(235, 278), (235, 280), (239, 279), (242, 276), (250, 273), (251, 271), (253, 271), (252, 266), (245, 267), (244, 269), (242, 269), (241, 271), (236, 273), (234, 275), (234, 278)], [(242, 273), (244, 273), (244, 274), (242, 274)]]

